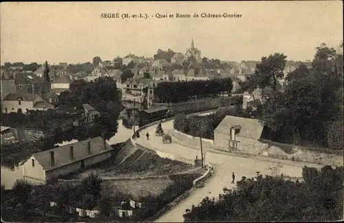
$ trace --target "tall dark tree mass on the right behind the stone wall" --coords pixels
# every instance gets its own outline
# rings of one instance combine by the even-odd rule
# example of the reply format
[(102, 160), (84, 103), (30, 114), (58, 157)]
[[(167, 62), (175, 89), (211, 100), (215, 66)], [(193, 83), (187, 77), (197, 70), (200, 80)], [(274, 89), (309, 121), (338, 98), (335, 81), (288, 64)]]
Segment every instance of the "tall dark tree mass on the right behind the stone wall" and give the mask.
[[(309, 70), (300, 65), (287, 76), (284, 92), (275, 92), (263, 105), (261, 123), (281, 135), (286, 131), (295, 136), (294, 143), (328, 146), (327, 138), (341, 139), (336, 125), (343, 122), (341, 103), (343, 100), (343, 62), (336, 60), (336, 51), (325, 44), (316, 48), (316, 54)], [(279, 138), (279, 137), (277, 137)], [(279, 139), (280, 142), (281, 139)], [(343, 149), (343, 147), (332, 147)]]

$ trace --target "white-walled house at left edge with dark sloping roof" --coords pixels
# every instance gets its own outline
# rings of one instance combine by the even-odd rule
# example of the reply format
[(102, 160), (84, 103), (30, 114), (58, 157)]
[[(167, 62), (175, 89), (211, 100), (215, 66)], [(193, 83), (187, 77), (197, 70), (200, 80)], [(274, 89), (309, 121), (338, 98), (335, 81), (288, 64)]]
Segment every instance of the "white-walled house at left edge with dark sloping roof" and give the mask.
[(54, 105), (47, 103), (39, 94), (8, 94), (1, 101), (3, 113), (28, 110), (47, 110), (54, 108)]

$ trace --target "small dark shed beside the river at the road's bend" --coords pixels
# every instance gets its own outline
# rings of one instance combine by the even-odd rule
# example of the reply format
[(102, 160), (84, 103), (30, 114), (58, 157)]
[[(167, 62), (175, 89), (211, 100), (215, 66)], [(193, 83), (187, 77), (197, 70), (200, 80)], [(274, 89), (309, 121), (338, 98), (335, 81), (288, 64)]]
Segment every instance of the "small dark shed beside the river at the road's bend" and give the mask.
[(167, 118), (168, 113), (169, 108), (165, 106), (140, 111), (140, 126), (147, 125), (148, 123), (153, 123), (163, 118)]

